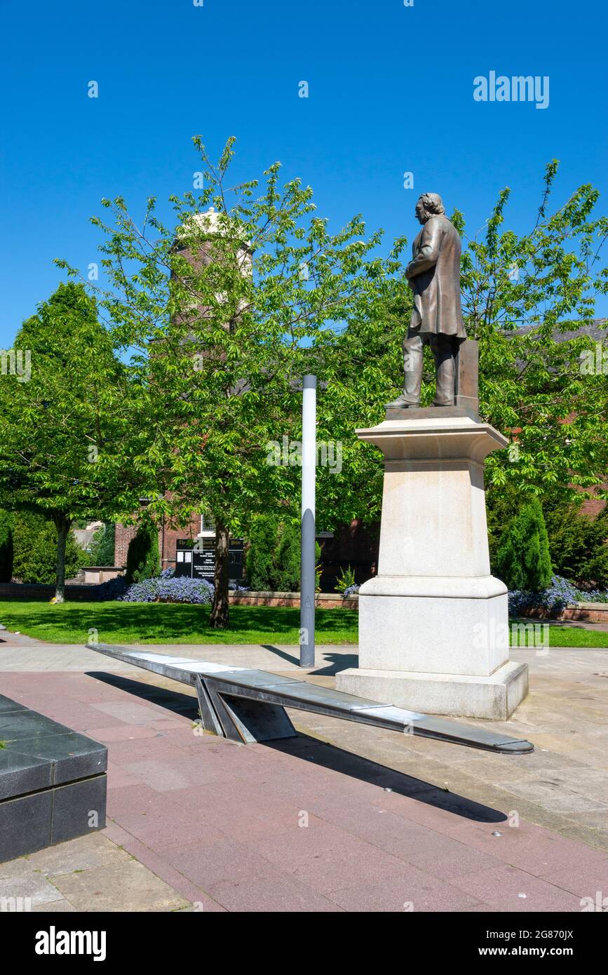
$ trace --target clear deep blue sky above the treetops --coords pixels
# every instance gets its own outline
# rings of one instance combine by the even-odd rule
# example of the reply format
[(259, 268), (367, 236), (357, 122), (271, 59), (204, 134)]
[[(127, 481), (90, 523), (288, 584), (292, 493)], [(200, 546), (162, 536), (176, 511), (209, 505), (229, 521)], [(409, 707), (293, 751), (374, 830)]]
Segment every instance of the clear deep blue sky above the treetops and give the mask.
[[(0, 348), (62, 280), (54, 257), (96, 259), (102, 196), (139, 212), (192, 187), (196, 134), (238, 137), (235, 183), (281, 160), (333, 228), (361, 212), (411, 239), (433, 190), (471, 230), (508, 184), (523, 231), (552, 157), (556, 198), (593, 182), (608, 213), (600, 0), (0, 0), (0, 19)], [(549, 107), (475, 101), (492, 70), (549, 75)]]

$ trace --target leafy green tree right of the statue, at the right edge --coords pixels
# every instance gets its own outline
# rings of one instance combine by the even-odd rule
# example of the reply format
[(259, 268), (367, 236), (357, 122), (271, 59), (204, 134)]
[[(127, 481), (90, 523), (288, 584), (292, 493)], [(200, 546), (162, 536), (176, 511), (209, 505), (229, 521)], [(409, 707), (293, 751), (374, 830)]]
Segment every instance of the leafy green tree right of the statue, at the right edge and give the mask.
[(487, 458), (488, 484), (538, 495), (558, 486), (574, 497), (601, 486), (608, 469), (606, 377), (581, 361), (594, 350), (584, 330), (595, 297), (608, 290), (608, 219), (594, 215), (599, 193), (589, 184), (551, 210), (556, 174), (553, 161), (527, 233), (503, 230), (505, 189), (483, 237), (465, 236), (463, 313), (479, 341), (481, 416), (513, 440)]

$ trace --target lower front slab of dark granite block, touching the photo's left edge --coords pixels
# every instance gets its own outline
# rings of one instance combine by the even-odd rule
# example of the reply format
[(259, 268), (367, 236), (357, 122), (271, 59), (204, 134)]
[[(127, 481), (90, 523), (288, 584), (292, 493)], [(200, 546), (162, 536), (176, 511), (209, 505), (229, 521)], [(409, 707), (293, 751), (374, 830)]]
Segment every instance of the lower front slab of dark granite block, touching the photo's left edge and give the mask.
[(0, 802), (0, 863), (51, 842), (53, 792), (34, 793)]

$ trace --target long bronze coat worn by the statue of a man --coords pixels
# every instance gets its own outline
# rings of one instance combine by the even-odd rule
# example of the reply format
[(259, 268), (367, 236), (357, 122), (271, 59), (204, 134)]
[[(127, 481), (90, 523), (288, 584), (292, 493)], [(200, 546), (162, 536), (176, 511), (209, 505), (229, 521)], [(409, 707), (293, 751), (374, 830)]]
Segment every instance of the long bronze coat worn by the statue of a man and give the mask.
[(444, 215), (430, 216), (405, 271), (414, 292), (409, 334), (466, 338), (460, 305), (460, 237)]

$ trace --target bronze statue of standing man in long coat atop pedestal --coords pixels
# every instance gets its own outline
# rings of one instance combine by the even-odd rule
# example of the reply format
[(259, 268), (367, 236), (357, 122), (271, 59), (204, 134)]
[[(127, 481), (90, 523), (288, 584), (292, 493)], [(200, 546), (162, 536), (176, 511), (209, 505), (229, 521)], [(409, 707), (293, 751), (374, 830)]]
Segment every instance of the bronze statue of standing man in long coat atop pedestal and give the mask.
[(423, 193), (416, 204), (422, 230), (412, 246), (405, 277), (414, 292), (414, 307), (403, 340), (403, 393), (391, 409), (420, 406), (423, 345), (435, 356), (437, 389), (434, 407), (451, 407), (455, 399), (455, 357), (467, 337), (460, 305), (460, 237), (437, 193)]

